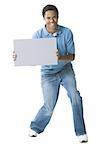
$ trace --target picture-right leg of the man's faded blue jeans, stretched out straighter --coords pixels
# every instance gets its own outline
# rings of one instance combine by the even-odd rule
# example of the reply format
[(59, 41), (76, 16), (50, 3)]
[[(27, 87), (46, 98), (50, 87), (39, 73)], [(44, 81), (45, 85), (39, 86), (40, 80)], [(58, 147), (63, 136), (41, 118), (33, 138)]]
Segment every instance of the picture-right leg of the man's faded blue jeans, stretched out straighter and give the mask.
[(63, 72), (62, 86), (67, 90), (68, 97), (71, 100), (75, 133), (76, 135), (86, 134), (82, 97), (76, 88), (75, 74), (72, 67), (67, 68)]

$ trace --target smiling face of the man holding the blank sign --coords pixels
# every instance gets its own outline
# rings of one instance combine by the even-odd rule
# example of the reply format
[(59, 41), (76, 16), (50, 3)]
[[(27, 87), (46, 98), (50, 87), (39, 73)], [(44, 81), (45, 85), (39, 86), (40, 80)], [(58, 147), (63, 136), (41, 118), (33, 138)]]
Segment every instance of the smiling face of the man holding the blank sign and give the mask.
[(48, 10), (45, 12), (44, 20), (46, 28), (50, 31), (57, 29), (58, 17), (57, 13), (53, 10)]

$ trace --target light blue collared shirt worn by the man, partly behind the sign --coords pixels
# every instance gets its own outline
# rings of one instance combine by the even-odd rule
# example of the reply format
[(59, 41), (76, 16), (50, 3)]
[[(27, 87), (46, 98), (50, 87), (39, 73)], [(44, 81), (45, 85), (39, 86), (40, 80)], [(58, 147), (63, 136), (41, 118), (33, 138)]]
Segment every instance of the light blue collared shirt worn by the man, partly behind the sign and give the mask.
[[(73, 41), (73, 33), (70, 29), (58, 25), (58, 30), (55, 34), (51, 34), (46, 30), (46, 27), (41, 28), (34, 33), (33, 39), (36, 38), (50, 38), (56, 37), (57, 49), (59, 55), (75, 54), (75, 46)], [(70, 61), (59, 61), (57, 65), (43, 65), (41, 66), (42, 74), (57, 73), (64, 69), (65, 66), (71, 65)]]

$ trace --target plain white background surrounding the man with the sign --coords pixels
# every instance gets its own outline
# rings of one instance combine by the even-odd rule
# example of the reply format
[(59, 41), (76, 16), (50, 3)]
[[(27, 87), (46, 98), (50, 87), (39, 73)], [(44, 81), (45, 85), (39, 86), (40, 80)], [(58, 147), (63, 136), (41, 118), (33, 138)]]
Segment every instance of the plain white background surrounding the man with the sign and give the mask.
[[(58, 7), (59, 24), (74, 33), (76, 59), (73, 66), (83, 97), (87, 144), (77, 141), (70, 102), (62, 87), (44, 133), (34, 139), (28, 137), (30, 121), (43, 104), (40, 66), (15, 67), (13, 39), (31, 38), (44, 25), (41, 11), (46, 4)], [(0, 147), (3, 150), (109, 147), (108, 14), (108, 0), (0, 1)]]

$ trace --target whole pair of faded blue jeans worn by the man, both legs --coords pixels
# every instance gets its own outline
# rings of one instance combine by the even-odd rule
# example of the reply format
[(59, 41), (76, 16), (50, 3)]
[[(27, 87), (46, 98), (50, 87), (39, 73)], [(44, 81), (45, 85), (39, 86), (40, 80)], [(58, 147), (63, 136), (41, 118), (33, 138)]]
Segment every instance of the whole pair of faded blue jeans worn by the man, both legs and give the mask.
[(52, 117), (59, 95), (59, 88), (62, 85), (67, 90), (67, 95), (71, 101), (75, 133), (76, 135), (86, 134), (82, 97), (76, 88), (75, 74), (72, 66), (64, 67), (58, 73), (42, 75), (41, 78), (44, 105), (31, 122), (30, 128), (38, 134), (44, 131)]

